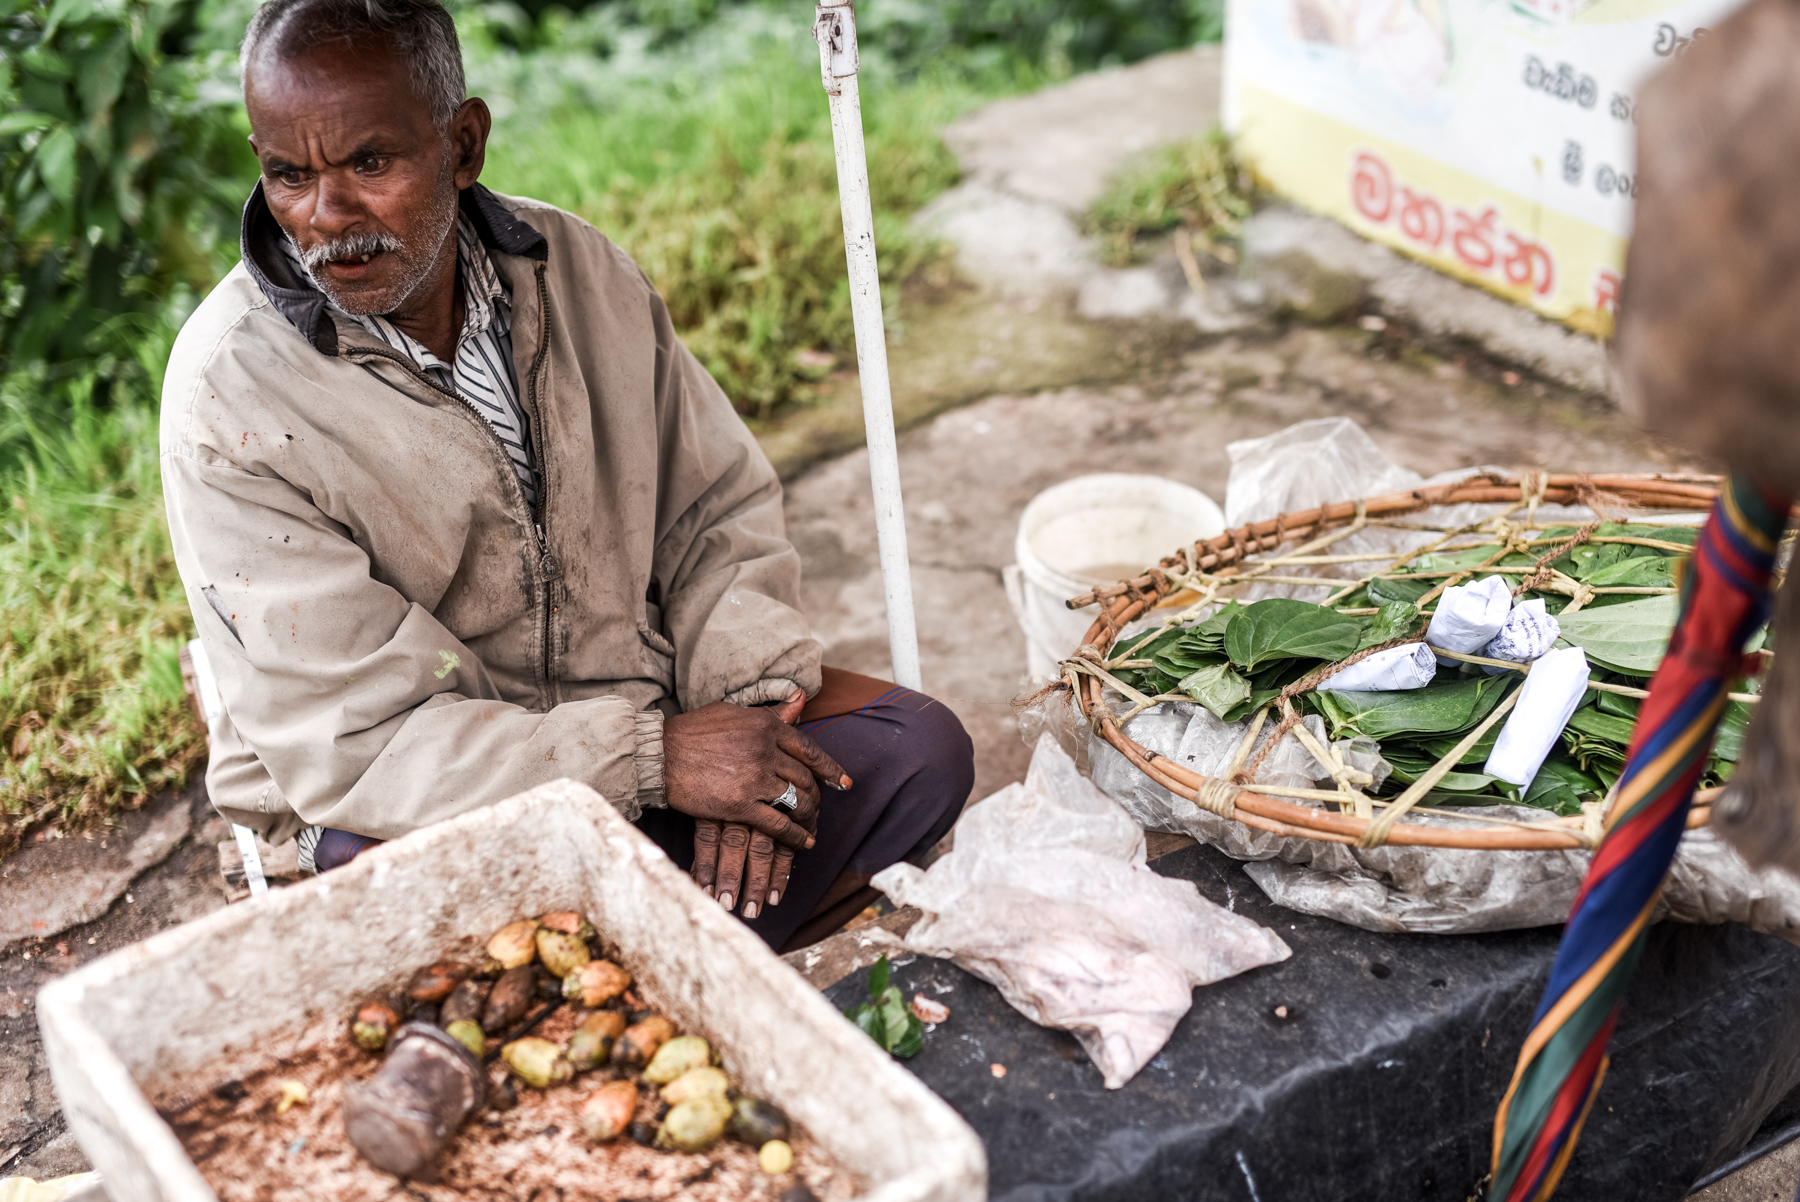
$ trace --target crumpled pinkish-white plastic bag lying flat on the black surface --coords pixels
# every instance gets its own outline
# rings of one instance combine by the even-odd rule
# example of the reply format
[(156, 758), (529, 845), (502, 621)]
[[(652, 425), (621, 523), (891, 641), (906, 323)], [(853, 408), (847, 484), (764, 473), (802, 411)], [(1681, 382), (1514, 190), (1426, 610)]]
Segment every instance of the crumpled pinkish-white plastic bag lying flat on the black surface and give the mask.
[(925, 910), (907, 950), (954, 961), (1031, 1022), (1075, 1035), (1107, 1089), (1163, 1049), (1193, 986), (1292, 955), (1192, 882), (1147, 867), (1139, 826), (1048, 732), (1022, 785), (963, 815), (954, 851), (873, 884)]

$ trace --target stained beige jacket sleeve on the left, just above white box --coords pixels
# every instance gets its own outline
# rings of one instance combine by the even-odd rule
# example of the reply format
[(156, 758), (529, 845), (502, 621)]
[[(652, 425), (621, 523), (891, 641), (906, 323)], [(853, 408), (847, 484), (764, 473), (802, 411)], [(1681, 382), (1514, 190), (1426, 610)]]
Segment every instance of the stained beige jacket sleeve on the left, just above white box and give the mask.
[(558, 777), (626, 817), (661, 804), (655, 709), (497, 700), (481, 660), (283, 479), (166, 443), (164, 491), (225, 709), (270, 777), (257, 810), (394, 839)]

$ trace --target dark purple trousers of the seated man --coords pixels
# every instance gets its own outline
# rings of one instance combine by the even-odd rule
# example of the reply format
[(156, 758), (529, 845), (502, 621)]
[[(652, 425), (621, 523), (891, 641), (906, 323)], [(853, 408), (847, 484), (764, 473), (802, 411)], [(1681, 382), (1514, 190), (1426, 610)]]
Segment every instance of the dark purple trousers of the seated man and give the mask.
[[(821, 792), (817, 840), (794, 857), (781, 903), (763, 907), (747, 923), (776, 950), (815, 943), (873, 902), (878, 894), (869, 876), (931, 851), (963, 812), (976, 781), (974, 743), (963, 723), (945, 704), (900, 686), (850, 713), (803, 720), (799, 729), (855, 783), (841, 794)], [(637, 830), (682, 871), (693, 867), (693, 826), (677, 810), (646, 810), (637, 819)], [(313, 862), (324, 873), (378, 842), (326, 830)]]

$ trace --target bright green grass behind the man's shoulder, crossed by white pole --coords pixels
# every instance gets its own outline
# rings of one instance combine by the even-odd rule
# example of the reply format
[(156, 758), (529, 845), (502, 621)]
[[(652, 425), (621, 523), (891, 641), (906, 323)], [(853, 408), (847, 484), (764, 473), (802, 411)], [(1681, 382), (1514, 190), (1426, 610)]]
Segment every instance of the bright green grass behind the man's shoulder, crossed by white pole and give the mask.
[[(956, 180), (938, 130), (968, 103), (968, 90), (925, 81), (877, 81), (864, 95), (889, 302), (934, 254), (907, 214)], [(608, 108), (502, 119), (482, 180), (571, 209), (634, 256), (752, 421), (805, 403), (832, 360), (855, 358), (815, 54), (763, 38), (706, 86), (652, 85)]]

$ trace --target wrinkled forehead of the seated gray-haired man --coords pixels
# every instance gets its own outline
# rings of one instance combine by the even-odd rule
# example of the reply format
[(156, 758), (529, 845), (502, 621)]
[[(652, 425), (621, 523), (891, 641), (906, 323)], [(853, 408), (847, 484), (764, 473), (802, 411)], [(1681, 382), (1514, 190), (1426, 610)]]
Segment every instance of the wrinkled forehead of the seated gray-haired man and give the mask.
[(380, 34), (301, 36), (279, 31), (243, 68), (257, 144), (299, 130), (358, 137), (430, 137), (430, 104), (394, 45)]

